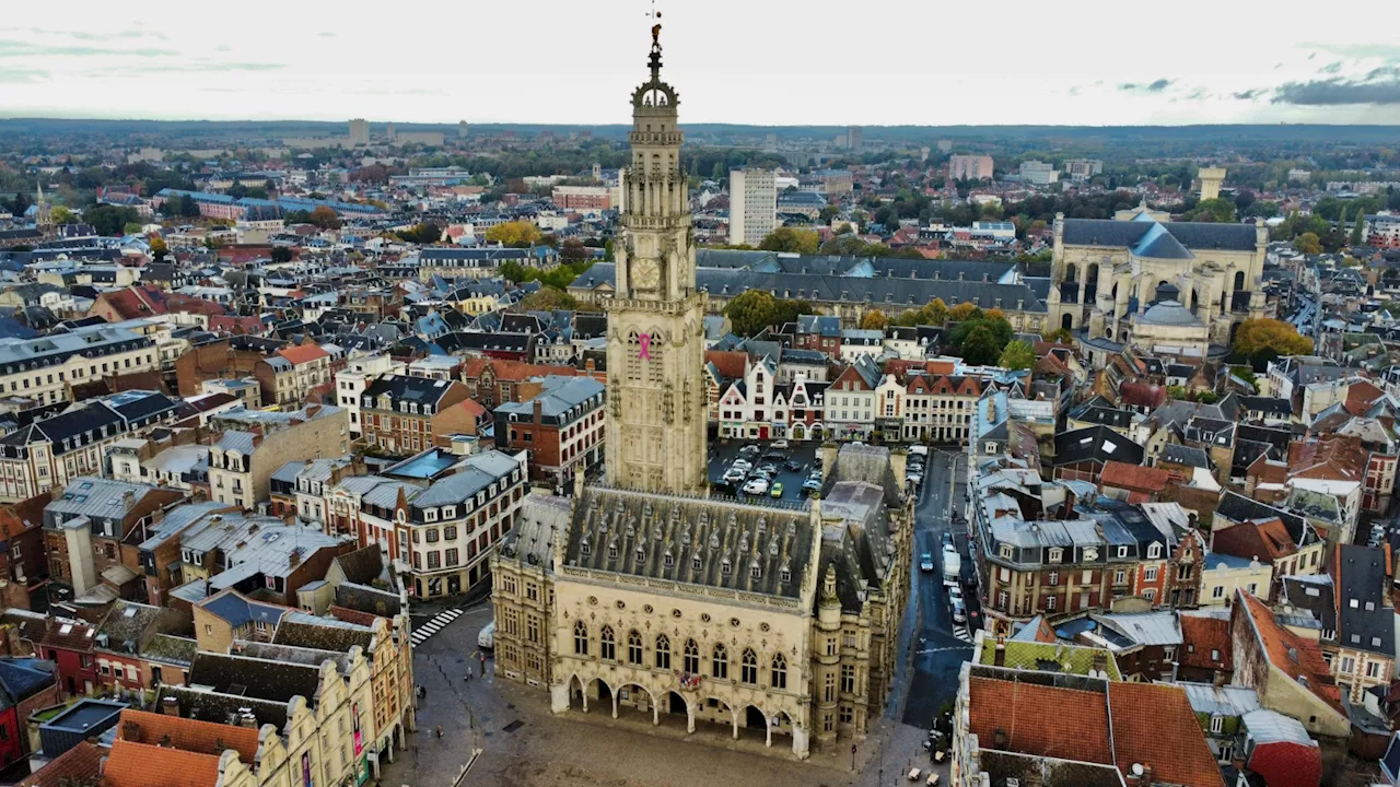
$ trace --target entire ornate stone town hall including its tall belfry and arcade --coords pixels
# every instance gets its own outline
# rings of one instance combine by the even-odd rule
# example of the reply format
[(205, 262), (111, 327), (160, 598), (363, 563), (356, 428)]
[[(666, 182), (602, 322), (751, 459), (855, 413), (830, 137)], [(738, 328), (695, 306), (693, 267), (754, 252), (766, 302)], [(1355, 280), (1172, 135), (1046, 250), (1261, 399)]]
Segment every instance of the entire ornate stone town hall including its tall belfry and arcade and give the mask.
[(676, 106), (654, 39), (608, 307), (608, 478), (531, 494), (501, 542), (496, 674), (547, 690), (559, 714), (805, 758), (864, 737), (890, 693), (913, 541), (904, 455), (823, 445), (808, 503), (708, 496)]

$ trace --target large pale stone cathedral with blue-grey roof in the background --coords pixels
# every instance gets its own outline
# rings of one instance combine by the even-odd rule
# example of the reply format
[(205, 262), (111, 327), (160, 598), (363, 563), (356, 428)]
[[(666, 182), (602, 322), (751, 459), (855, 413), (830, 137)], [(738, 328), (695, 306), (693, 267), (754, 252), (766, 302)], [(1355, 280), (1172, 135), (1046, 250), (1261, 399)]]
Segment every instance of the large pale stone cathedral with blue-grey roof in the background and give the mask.
[[(1127, 344), (1204, 356), (1200, 360), (1225, 357), (1239, 323), (1266, 316), (1268, 228), (1169, 221), (1149, 210), (1131, 216), (1056, 216), (1050, 325), (1072, 330), (1096, 365)], [(1180, 308), (1148, 314), (1166, 300)]]

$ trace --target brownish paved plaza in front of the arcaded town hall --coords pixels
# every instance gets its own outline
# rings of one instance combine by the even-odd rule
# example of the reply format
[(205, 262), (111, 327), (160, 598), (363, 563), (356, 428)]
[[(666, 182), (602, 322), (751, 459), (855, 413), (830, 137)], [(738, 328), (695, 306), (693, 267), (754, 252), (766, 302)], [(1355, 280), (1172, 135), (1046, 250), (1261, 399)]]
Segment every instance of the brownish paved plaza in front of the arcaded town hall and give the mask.
[[(874, 787), (907, 784), (909, 767), (928, 765), (924, 731), (889, 720), (881, 720), (857, 746), (857, 774), (844, 741), (837, 751), (816, 751), (804, 762), (781, 749), (756, 753), (763, 749), (762, 738), (734, 741), (703, 728), (687, 737), (683, 728), (652, 728), (643, 718), (615, 720), (610, 709), (554, 716), (546, 692), (482, 676), (476, 636), (490, 616), (490, 605), (477, 604), (414, 648), (414, 676), (427, 696), (420, 700), (409, 751), (384, 767), (382, 786), (452, 787), (477, 749), (480, 756), (462, 784), (729, 787), (742, 776), (746, 786)], [(490, 667), (487, 660), (487, 674)]]

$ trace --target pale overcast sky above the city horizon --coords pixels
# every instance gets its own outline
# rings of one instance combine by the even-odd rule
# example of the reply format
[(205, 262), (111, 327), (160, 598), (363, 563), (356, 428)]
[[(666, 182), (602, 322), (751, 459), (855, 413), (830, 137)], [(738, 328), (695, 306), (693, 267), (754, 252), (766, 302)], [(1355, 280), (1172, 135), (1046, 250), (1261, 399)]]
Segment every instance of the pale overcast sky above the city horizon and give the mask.
[[(0, 116), (622, 123), (651, 25), (645, 0), (8, 6)], [(1400, 123), (1397, 0), (658, 8), (692, 123)]]

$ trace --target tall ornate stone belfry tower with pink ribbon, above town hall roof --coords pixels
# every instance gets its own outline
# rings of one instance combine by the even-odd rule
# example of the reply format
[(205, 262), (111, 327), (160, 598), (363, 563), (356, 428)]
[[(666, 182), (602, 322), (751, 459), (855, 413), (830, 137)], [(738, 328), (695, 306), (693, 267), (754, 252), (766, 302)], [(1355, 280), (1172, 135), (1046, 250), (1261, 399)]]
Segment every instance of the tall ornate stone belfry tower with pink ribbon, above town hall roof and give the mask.
[(651, 80), (631, 95), (631, 165), (615, 245), (608, 311), (608, 483), (703, 494), (706, 473), (704, 312), (696, 291), (685, 134), (676, 91), (661, 81), (661, 25), (651, 29)]

